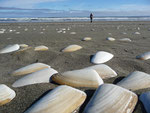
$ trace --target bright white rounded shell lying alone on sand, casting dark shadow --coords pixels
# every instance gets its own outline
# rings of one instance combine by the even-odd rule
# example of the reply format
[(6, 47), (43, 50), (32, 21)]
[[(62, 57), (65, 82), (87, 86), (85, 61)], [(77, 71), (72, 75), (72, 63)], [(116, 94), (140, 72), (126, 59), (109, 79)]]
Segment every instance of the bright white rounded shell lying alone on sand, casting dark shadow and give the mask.
[(105, 51), (98, 51), (91, 59), (91, 62), (94, 64), (101, 64), (109, 61), (113, 58), (113, 54), (105, 52)]

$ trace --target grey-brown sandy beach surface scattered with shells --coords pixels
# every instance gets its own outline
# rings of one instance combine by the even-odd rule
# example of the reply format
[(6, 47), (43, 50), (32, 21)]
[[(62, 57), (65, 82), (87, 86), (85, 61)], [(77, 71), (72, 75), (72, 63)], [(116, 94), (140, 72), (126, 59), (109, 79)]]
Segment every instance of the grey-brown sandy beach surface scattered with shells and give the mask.
[[(66, 33), (57, 33), (61, 28), (65, 28)], [(67, 30), (68, 28), (70, 30)], [(48, 64), (62, 73), (92, 66), (94, 64), (90, 62), (91, 56), (97, 51), (107, 51), (112, 53), (114, 58), (105, 64), (115, 70), (118, 76), (105, 79), (105, 83), (116, 84), (133, 71), (150, 74), (150, 60), (136, 59), (137, 55), (150, 51), (149, 21), (0, 23), (0, 29), (6, 29), (4, 33), (0, 33), (0, 49), (10, 44), (27, 44), (31, 47), (45, 45), (49, 48), (48, 51), (36, 52), (29, 49), (19, 53), (0, 54), (0, 84), (6, 84), (16, 92), (16, 97), (10, 103), (0, 107), (0, 113), (23, 113), (45, 92), (58, 86), (55, 83), (43, 83), (20, 88), (12, 87), (12, 84), (22, 76), (12, 76), (10, 73), (35, 62)], [(71, 32), (76, 34), (70, 34)], [(91, 37), (92, 40), (82, 41), (84, 37)], [(108, 41), (107, 37), (113, 37), (116, 40)], [(131, 42), (119, 41), (122, 38), (130, 38)], [(71, 53), (60, 51), (71, 44), (77, 44), (83, 48)], [(86, 102), (77, 110), (77, 113), (82, 113), (95, 89), (78, 89), (85, 91), (88, 95)], [(150, 88), (138, 90), (135, 93), (139, 96), (146, 91), (150, 91)], [(140, 101), (133, 113), (145, 113)]]

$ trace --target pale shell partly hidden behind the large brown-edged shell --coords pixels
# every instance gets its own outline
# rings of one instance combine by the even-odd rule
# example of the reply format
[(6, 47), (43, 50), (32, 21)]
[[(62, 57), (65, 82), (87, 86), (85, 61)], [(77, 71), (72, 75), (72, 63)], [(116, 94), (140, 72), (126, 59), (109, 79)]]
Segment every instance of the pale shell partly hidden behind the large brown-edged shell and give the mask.
[(94, 69), (102, 79), (116, 77), (117, 73), (106, 64), (89, 66), (84, 69)]

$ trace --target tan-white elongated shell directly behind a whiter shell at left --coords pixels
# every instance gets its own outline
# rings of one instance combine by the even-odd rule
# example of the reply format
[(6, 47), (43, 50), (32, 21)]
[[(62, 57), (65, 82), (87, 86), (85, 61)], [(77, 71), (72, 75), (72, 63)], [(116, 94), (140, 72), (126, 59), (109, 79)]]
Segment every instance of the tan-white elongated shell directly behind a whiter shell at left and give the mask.
[(25, 74), (29, 74), (41, 69), (45, 69), (45, 68), (49, 68), (50, 66), (47, 64), (43, 64), (43, 63), (33, 63), (30, 65), (27, 65), (25, 67), (22, 67), (20, 69), (17, 69), (16, 71), (12, 72), (13, 76), (17, 76), (17, 75), (25, 75)]

